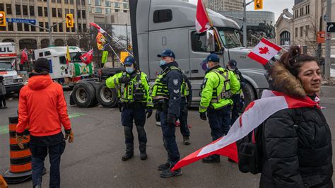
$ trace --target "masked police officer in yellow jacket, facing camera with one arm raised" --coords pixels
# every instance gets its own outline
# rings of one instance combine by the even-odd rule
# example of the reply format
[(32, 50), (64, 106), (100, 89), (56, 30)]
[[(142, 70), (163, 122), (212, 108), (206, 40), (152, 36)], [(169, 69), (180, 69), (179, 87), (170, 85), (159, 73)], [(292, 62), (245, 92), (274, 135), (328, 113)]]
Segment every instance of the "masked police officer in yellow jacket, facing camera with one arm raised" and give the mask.
[[(141, 160), (148, 158), (146, 154), (146, 118), (153, 113), (153, 102), (149, 95), (149, 85), (146, 74), (136, 69), (135, 59), (126, 57), (125, 71), (122, 71), (106, 80), (108, 88), (117, 88), (121, 122), (124, 126), (126, 153), (122, 160), (129, 160), (134, 155), (133, 121), (139, 136), (139, 150)], [(146, 117), (147, 114), (147, 117)]]

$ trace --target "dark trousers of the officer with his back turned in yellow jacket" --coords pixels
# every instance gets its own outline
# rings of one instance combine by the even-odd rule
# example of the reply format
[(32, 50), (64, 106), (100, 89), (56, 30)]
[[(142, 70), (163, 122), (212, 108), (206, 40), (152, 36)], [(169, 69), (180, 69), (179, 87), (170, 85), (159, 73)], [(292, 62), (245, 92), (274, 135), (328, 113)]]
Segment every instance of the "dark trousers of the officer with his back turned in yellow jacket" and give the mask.
[(208, 109), (207, 117), (213, 141), (228, 133), (230, 129), (230, 105), (218, 110)]

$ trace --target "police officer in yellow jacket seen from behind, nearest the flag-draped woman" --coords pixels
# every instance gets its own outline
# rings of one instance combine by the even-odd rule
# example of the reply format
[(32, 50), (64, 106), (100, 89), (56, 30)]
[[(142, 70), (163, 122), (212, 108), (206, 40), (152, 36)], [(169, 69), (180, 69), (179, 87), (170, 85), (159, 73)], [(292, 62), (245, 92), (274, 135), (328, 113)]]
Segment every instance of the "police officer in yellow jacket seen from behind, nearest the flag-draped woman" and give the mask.
[[(213, 141), (227, 134), (230, 129), (231, 93), (240, 90), (236, 76), (220, 66), (216, 54), (206, 58), (208, 70), (201, 85), (200, 118), (206, 120), (206, 112)], [(204, 163), (220, 163), (220, 155), (203, 158)]]

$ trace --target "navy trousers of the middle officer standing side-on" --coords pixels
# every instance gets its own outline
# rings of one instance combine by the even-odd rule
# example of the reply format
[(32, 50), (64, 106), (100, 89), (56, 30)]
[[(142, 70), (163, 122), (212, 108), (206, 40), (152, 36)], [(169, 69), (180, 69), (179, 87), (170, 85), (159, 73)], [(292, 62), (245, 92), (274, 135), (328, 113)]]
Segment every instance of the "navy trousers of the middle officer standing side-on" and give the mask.
[(174, 166), (180, 160), (176, 142), (175, 126), (167, 124), (167, 112), (160, 112), (160, 124), (163, 131), (163, 143), (167, 151), (167, 162)]

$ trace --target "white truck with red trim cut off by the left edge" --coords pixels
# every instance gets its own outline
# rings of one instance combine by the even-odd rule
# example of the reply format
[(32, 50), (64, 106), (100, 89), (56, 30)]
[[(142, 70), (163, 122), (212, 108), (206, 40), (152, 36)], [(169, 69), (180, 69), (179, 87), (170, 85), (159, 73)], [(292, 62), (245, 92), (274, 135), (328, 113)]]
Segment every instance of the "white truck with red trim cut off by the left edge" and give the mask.
[(7, 94), (19, 93), (23, 87), (23, 78), (14, 69), (16, 57), (15, 43), (0, 42), (0, 76), (4, 76)]

